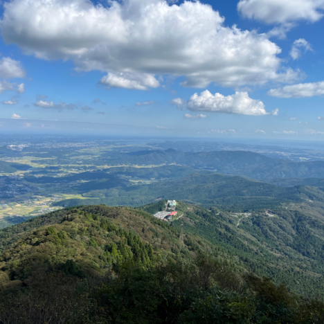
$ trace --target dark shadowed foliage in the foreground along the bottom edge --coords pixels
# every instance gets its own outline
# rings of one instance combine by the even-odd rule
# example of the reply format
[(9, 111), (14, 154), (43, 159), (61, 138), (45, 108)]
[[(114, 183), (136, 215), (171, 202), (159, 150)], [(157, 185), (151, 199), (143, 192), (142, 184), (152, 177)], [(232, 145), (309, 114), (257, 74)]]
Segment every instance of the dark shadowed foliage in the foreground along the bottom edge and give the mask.
[(105, 278), (39, 272), (6, 287), (0, 323), (323, 323), (324, 304), (213, 258), (145, 269), (127, 262)]

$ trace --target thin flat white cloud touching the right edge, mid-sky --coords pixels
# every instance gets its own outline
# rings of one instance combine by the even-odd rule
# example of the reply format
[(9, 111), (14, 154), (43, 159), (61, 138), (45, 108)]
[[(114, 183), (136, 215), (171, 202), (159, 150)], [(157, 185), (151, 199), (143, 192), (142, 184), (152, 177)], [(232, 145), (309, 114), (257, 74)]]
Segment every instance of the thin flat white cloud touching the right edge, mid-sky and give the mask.
[(269, 96), (279, 98), (303, 98), (324, 95), (324, 81), (299, 83), (277, 89), (270, 89)]

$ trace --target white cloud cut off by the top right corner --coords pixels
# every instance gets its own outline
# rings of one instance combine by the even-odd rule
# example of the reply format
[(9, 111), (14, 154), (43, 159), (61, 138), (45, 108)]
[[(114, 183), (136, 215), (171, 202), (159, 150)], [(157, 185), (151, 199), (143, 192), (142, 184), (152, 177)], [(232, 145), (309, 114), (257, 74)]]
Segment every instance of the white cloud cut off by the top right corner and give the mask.
[(240, 0), (237, 10), (243, 17), (266, 24), (291, 21), (318, 21), (323, 17), (324, 0)]

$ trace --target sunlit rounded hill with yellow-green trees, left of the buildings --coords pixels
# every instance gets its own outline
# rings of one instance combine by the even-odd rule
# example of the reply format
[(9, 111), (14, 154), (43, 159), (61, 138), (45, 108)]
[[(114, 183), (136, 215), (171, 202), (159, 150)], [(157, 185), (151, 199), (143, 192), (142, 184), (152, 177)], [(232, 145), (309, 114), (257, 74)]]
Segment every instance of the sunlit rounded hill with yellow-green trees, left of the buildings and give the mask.
[(71, 258), (81, 271), (103, 274), (127, 260), (147, 267), (168, 258), (186, 258), (189, 251), (215, 250), (191, 235), (190, 249), (183, 251), (178, 236), (169, 224), (132, 208), (59, 210), (0, 231), (0, 278), (25, 280), (37, 269), (60, 269)]

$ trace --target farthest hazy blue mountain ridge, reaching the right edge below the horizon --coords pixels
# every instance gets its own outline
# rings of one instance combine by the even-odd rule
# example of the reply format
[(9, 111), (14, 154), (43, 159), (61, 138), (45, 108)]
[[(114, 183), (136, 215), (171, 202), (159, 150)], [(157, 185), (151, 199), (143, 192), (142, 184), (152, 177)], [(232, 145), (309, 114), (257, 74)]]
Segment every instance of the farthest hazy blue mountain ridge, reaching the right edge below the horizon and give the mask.
[(224, 174), (237, 174), (265, 180), (273, 178), (324, 178), (324, 162), (293, 162), (272, 159), (246, 151), (180, 152), (176, 150), (146, 150), (125, 153), (107, 160), (109, 165), (162, 165), (177, 163), (196, 169), (208, 169)]

